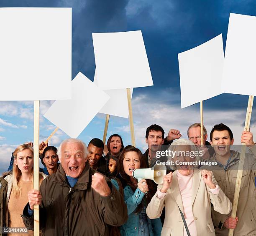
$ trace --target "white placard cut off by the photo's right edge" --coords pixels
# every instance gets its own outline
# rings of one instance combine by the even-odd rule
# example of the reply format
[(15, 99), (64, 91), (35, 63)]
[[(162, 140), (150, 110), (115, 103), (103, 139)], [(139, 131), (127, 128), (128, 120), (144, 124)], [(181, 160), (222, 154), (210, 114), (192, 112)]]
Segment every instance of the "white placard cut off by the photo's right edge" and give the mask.
[(223, 93), (256, 95), (256, 17), (230, 13)]

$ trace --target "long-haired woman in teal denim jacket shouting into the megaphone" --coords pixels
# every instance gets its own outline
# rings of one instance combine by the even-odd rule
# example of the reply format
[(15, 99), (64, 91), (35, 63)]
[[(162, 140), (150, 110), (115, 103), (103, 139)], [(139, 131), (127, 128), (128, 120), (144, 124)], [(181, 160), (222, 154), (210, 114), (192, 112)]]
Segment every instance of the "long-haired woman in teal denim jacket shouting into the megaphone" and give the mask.
[[(154, 195), (153, 183), (145, 179), (138, 182), (133, 178), (133, 170), (139, 168), (147, 168), (141, 151), (131, 145), (126, 146), (118, 159), (118, 173), (128, 209), (128, 221), (119, 227), (120, 233), (122, 236), (158, 236), (162, 229), (160, 218), (151, 220), (146, 215), (146, 207)], [(120, 188), (116, 179), (112, 179), (111, 183)]]

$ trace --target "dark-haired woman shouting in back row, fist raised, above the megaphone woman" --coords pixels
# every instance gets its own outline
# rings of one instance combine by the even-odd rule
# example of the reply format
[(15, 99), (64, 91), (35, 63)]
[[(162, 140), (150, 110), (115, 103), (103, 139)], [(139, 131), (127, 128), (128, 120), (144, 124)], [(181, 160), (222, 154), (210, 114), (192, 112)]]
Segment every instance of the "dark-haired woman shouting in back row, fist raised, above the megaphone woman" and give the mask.
[(104, 148), (104, 154), (110, 173), (116, 172), (116, 164), (120, 152), (123, 151), (123, 140), (119, 134), (113, 134), (108, 138), (107, 146)]

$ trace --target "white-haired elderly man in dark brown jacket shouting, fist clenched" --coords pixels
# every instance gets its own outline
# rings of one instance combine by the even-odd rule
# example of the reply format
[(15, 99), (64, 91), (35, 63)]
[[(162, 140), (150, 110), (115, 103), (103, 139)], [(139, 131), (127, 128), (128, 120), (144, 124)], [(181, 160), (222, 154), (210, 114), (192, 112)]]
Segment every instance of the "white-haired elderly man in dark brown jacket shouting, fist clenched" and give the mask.
[(110, 226), (127, 220), (127, 207), (110, 181), (90, 168), (87, 147), (79, 139), (63, 141), (59, 166), (42, 182), (40, 192), (28, 193), (23, 222), (33, 230), (33, 208), (40, 204), (40, 229), (44, 235), (104, 235)]

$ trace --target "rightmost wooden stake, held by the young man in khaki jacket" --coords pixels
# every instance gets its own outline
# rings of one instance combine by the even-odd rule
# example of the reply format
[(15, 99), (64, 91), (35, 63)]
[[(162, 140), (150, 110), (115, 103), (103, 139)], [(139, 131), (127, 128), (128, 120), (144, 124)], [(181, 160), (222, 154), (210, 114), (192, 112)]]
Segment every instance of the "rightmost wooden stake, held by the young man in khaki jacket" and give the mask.
[[(244, 124), (245, 131), (249, 131), (249, 128), (250, 128), (252, 107), (253, 107), (253, 96), (249, 96), (247, 112), (246, 112), (246, 121)], [(236, 188), (235, 188), (235, 194), (234, 194), (233, 208), (232, 208), (232, 213), (231, 213), (232, 218), (236, 218), (236, 211), (237, 211), (237, 206), (238, 206), (240, 186), (241, 186), (241, 180), (242, 180), (242, 174), (243, 174), (243, 163), (244, 163), (244, 159), (245, 159), (245, 153), (246, 153), (246, 144), (242, 143), (241, 154), (240, 154), (240, 159), (239, 159), (239, 164), (238, 164), (237, 177), (236, 177)], [(231, 228), (228, 232), (228, 236), (233, 236), (233, 233), (234, 233), (234, 229)]]

